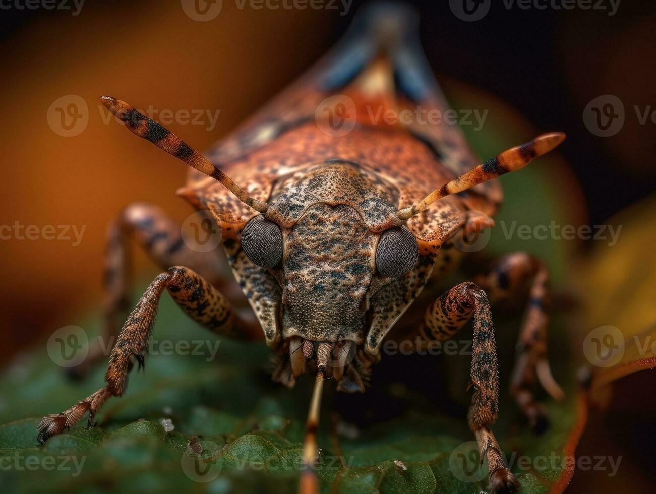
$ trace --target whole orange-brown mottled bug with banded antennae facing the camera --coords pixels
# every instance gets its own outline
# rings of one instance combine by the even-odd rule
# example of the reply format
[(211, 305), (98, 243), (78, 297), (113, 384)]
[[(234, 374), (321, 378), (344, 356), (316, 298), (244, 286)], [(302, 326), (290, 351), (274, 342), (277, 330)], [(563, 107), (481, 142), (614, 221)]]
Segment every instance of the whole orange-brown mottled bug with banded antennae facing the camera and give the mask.
[[(363, 392), (381, 346), (431, 277), (461, 263), (457, 238), (493, 226), (502, 202), (493, 180), (521, 169), (560, 144), (546, 133), (476, 165), (457, 127), (425, 121), (373, 121), (382, 111), (416, 108), (443, 113), (445, 98), (422, 56), (415, 16), (405, 9), (373, 9), (359, 17), (331, 54), (274, 102), (209, 151), (207, 159), (132, 106), (101, 101), (134, 134), (184, 161), (192, 170), (178, 194), (209, 211), (241, 290), (276, 358), (273, 380), (292, 388), (315, 375), (301, 491), (318, 489), (321, 391), (333, 379), (343, 392)], [(388, 114), (388, 113), (386, 113)], [(144, 365), (159, 299), (167, 291), (192, 319), (220, 337), (253, 338), (253, 324), (218, 289), (216, 251), (197, 252), (159, 208), (136, 204), (110, 228), (104, 325), (112, 335), (129, 291), (127, 241), (144, 246), (164, 271), (150, 284), (113, 346), (106, 386), (39, 423), (39, 441), (74, 426), (126, 390), (132, 358)], [(170, 267), (174, 266), (174, 267)], [(414, 328), (417, 345), (447, 340), (473, 316), (468, 423), (489, 464), (490, 491), (512, 492), (518, 482), (491, 430), (499, 382), (490, 300), (525, 295), (510, 386), (536, 428), (543, 408), (536, 377), (556, 399), (562, 390), (546, 358), (548, 272), (539, 259), (513, 253), (474, 281), (434, 300)]]

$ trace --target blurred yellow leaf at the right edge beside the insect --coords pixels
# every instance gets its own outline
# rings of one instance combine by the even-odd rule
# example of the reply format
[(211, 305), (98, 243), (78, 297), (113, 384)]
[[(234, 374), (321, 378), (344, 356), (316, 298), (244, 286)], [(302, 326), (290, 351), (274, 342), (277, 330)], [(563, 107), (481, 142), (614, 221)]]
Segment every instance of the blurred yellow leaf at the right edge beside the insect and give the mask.
[(581, 266), (583, 352), (592, 364), (590, 397), (611, 398), (609, 384), (656, 367), (656, 195), (613, 216), (615, 245), (599, 243)]

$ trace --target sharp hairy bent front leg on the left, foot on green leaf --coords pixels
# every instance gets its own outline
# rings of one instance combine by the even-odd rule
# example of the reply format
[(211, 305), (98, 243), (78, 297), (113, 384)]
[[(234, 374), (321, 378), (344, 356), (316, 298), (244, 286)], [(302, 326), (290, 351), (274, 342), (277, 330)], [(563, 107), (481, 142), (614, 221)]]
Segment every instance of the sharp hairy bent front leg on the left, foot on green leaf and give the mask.
[(167, 289), (173, 300), (192, 319), (217, 335), (249, 339), (251, 335), (241, 331), (241, 320), (228, 300), (208, 281), (189, 268), (175, 266), (163, 272), (146, 289), (138, 304), (123, 324), (123, 329), (110, 355), (105, 374), (107, 386), (78, 401), (63, 413), (54, 413), (39, 422), (39, 442), (71, 428), (89, 412), (89, 424), (94, 415), (110, 396), (121, 396), (127, 388), (127, 375), (134, 356), (139, 367), (144, 367), (148, 341), (152, 335), (159, 298)]

